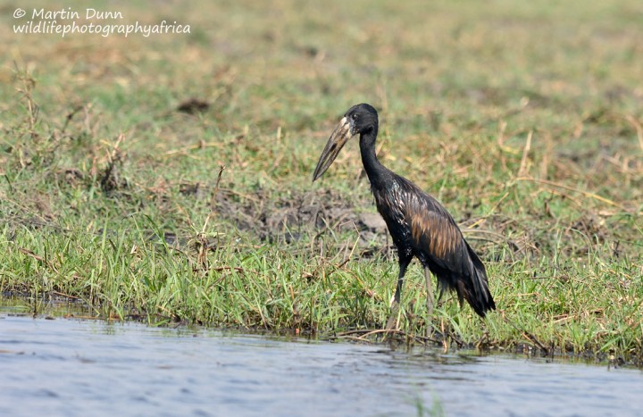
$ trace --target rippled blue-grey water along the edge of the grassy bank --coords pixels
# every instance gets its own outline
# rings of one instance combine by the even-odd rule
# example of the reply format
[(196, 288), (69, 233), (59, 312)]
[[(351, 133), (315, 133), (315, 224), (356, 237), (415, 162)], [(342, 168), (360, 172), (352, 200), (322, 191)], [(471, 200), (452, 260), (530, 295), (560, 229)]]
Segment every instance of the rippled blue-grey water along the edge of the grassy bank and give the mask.
[(0, 313), (0, 415), (641, 415), (643, 372)]

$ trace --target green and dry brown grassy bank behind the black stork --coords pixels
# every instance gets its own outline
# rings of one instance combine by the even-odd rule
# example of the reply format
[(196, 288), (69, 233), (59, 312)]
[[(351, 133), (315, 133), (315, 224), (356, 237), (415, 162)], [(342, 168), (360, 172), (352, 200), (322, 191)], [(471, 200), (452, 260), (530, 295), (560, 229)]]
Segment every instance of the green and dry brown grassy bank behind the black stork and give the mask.
[(118, 7), (191, 33), (17, 35), (2, 9), (5, 295), (150, 324), (381, 328), (397, 262), (356, 141), (310, 182), (369, 102), (380, 159), (454, 214), (498, 306), (480, 321), (446, 296), (427, 318), (413, 264), (406, 335), (430, 321), (446, 344), (643, 360), (639, 2), (157, 5)]

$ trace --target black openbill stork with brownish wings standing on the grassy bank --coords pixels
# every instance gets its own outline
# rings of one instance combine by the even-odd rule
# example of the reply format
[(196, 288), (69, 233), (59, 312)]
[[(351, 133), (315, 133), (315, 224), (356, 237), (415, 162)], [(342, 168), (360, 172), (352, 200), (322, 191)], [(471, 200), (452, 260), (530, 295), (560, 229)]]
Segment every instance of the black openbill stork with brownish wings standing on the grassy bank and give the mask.
[(400, 302), (406, 267), (415, 256), (424, 267), (429, 314), (433, 311), (430, 272), (438, 278), (440, 288), (455, 290), (460, 304), (467, 300), (481, 317), (494, 310), (496, 304), (489, 292), (485, 267), (464, 240), (453, 217), (435, 198), (378, 161), (375, 154), (378, 114), (370, 104), (354, 105), (344, 114), (321, 153), (313, 181), (328, 170), (347, 140), (356, 134), (360, 136), (362, 163), (371, 181), (375, 205), (397, 246), (399, 276), (395, 302)]

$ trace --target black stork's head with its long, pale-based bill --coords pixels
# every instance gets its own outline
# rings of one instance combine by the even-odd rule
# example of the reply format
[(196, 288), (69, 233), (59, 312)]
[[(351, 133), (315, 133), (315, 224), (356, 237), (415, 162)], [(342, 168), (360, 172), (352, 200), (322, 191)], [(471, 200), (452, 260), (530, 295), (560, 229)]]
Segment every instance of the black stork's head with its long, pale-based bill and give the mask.
[(333, 130), (326, 147), (321, 153), (317, 168), (313, 173), (313, 181), (320, 178), (329, 169), (330, 164), (335, 161), (339, 151), (346, 145), (349, 138), (357, 134), (363, 135), (373, 131), (376, 132), (377, 127), (377, 111), (371, 104), (356, 104), (348, 109), (335, 130)]

